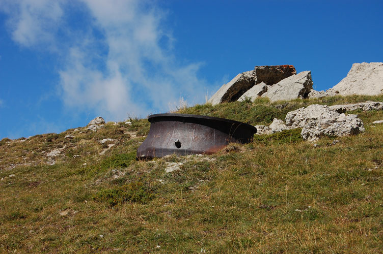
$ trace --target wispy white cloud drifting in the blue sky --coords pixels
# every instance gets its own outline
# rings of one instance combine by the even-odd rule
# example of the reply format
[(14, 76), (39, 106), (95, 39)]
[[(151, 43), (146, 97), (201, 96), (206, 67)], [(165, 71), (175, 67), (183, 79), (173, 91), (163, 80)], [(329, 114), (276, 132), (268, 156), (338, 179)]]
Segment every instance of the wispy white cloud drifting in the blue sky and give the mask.
[[(74, 8), (86, 19), (80, 29), (70, 22)], [(171, 50), (171, 31), (162, 26), (165, 12), (153, 2), (6, 0), (0, 9), (9, 15), (14, 41), (24, 47), (48, 45), (53, 54), (65, 56), (59, 85), (69, 110), (123, 119), (127, 113), (165, 111), (180, 97), (205, 100), (201, 63), (180, 65), (182, 59)]]

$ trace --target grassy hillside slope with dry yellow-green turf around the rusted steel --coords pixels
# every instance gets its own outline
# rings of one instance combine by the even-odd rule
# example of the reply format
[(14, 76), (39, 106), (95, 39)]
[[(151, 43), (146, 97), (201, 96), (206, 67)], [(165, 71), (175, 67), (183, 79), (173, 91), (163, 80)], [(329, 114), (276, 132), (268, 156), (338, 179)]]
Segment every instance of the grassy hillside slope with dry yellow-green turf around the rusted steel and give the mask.
[[(380, 97), (197, 105), (180, 113), (267, 124), (302, 106)], [(209, 156), (136, 161), (149, 130), (107, 123), (0, 141), (4, 253), (383, 253), (382, 111), (366, 132), (256, 136)], [(66, 139), (73, 135), (73, 139)], [(100, 140), (112, 138), (115, 146)], [(57, 150), (59, 155), (48, 156)], [(103, 154), (100, 154), (104, 152)], [(180, 170), (166, 173), (168, 165)]]

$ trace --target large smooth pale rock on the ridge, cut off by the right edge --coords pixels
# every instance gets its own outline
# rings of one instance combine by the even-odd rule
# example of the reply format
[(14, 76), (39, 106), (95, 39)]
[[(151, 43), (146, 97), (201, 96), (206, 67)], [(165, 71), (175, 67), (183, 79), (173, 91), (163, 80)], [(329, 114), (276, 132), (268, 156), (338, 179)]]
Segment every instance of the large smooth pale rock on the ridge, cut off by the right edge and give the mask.
[(342, 96), (383, 92), (383, 62), (354, 63), (347, 76), (333, 87)]

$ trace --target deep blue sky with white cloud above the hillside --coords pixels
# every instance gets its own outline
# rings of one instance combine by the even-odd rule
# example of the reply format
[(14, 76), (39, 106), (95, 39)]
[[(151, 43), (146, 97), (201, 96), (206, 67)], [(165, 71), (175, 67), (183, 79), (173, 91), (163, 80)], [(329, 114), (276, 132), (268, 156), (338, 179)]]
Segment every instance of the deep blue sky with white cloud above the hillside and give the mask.
[(0, 139), (204, 103), (257, 65), (383, 61), (383, 1), (2, 0)]

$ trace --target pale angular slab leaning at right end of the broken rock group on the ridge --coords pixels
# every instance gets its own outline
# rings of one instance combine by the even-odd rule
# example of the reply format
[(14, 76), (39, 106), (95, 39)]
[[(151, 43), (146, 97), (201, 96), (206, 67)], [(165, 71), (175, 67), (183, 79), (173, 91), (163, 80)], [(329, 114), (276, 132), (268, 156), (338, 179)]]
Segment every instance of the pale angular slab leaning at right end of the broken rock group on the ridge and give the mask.
[(262, 97), (268, 97), (271, 102), (307, 98), (312, 86), (311, 71), (305, 71), (269, 86)]

